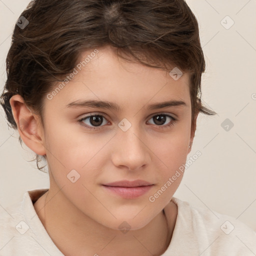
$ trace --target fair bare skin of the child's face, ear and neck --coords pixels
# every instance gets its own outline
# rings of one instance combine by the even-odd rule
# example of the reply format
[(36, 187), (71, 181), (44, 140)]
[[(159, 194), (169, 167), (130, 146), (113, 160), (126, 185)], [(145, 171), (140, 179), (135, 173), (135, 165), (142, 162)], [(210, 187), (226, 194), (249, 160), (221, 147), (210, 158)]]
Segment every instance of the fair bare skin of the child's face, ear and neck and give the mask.
[[(87, 54), (83, 52), (81, 59)], [(182, 175), (154, 202), (148, 198), (185, 163), (190, 152), (195, 127), (191, 128), (188, 81), (186, 73), (174, 80), (164, 70), (117, 58), (105, 47), (52, 99), (45, 97), (44, 126), (20, 95), (11, 97), (23, 142), (46, 155), (50, 187), (34, 208), (64, 255), (151, 256), (166, 250), (177, 215), (170, 199)], [(112, 101), (122, 108), (66, 107), (88, 99)], [(167, 100), (185, 104), (147, 108)], [(165, 121), (157, 122), (154, 116), (160, 113), (177, 121), (160, 115)], [(89, 114), (101, 115), (99, 126), (91, 118), (77, 122)], [(123, 118), (131, 124), (126, 131), (118, 126)], [(72, 169), (80, 175), (74, 183), (67, 178)], [(102, 185), (124, 179), (153, 185), (136, 198), (123, 198)], [(167, 219), (162, 211), (166, 205), (171, 212)], [(118, 228), (123, 221), (130, 226), (126, 233)]]

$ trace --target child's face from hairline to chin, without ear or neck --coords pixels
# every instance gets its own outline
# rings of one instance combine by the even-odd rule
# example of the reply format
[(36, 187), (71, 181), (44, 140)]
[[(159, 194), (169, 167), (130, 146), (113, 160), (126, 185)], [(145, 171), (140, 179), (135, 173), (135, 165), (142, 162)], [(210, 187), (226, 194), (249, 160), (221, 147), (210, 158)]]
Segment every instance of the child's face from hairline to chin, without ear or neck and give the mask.
[[(190, 151), (189, 76), (184, 73), (174, 80), (166, 71), (118, 60), (108, 47), (98, 50), (86, 66), (76, 68), (78, 73), (52, 99), (44, 100), (43, 141), (52, 173), (50, 188), (63, 187), (61, 192), (72, 204), (107, 227), (118, 229), (126, 221), (137, 229), (164, 208), (181, 181), (182, 173), (158, 198), (154, 196), (185, 163)], [(80, 60), (87, 54), (90, 52), (84, 52)], [(121, 109), (67, 107), (86, 100), (111, 101)], [(185, 104), (148, 108), (167, 100)], [(177, 121), (166, 115), (157, 118), (160, 113)], [(103, 117), (77, 121), (89, 114)], [(80, 175), (77, 180), (76, 172)], [(75, 176), (71, 178), (74, 183), (67, 177), (70, 175)], [(153, 185), (133, 198), (103, 185), (136, 179)]]

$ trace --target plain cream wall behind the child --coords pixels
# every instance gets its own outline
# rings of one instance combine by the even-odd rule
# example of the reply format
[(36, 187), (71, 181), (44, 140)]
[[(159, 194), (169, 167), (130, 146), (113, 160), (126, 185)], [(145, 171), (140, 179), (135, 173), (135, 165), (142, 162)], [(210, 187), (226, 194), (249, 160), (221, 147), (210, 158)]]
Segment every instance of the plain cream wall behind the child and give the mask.
[[(217, 115), (199, 114), (192, 150), (174, 196), (233, 216), (256, 231), (256, 1), (187, 0), (200, 29), (206, 61), (202, 100)], [(0, 0), (0, 91), (15, 22), (29, 0)], [(233, 125), (233, 126), (232, 126)], [(48, 174), (29, 162), (0, 107), (0, 207), (26, 190), (47, 188)]]

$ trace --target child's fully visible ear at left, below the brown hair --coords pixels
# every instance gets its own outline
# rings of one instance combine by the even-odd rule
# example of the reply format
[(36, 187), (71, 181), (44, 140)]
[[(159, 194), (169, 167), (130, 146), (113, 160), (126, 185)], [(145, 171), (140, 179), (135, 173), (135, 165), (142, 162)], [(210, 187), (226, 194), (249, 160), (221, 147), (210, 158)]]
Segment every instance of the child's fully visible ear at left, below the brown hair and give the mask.
[(24, 99), (18, 94), (13, 95), (9, 102), (22, 141), (36, 154), (46, 154), (39, 116), (31, 113), (25, 105)]

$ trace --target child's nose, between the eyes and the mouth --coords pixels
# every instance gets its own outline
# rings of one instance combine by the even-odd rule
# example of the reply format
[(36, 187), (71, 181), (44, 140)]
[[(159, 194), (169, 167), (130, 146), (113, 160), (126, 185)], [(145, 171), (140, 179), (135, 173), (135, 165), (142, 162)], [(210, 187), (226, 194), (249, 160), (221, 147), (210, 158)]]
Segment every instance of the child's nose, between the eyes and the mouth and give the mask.
[(112, 151), (113, 164), (128, 170), (139, 170), (148, 165), (150, 150), (144, 140), (145, 136), (134, 125), (126, 131), (117, 130)]

